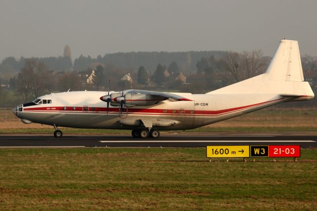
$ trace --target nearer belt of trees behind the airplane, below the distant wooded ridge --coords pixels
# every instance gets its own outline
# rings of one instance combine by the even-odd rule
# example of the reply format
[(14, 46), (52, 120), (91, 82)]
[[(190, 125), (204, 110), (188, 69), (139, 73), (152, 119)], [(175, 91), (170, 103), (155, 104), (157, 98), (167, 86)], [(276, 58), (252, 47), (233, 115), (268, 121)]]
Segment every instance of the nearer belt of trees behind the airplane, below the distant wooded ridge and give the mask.
[[(46, 63), (46, 59), (8, 57), (4, 59), (1, 66), (13, 65), (20, 70), (9, 79), (9, 91), (18, 96), (21, 102), (29, 101), (38, 96), (51, 92), (65, 92), (67, 90), (98, 90), (106, 91), (125, 89), (147, 89), (158, 91), (181, 91), (193, 94), (206, 93), (232, 83), (262, 74), (267, 68), (271, 57), (264, 56), (261, 50), (252, 52), (222, 52), (221, 56), (202, 56), (197, 60), (191, 72), (185, 73), (184, 68), (176, 61), (167, 65), (157, 63), (154, 70), (149, 70), (145, 65), (138, 68), (122, 68), (115, 65), (101, 62), (90, 63), (89, 66), (77, 71), (72, 69), (71, 57), (63, 57), (64, 71), (53, 71)], [(22, 65), (22, 66), (21, 66)], [(317, 62), (312, 57), (302, 58), (304, 72), (317, 71)], [(3, 76), (0, 72), (0, 78)], [(124, 75), (129, 74), (131, 81), (120, 80)], [(186, 81), (177, 80), (177, 76), (187, 77)], [(89, 82), (88, 82), (89, 80)], [(1, 81), (1, 79), (0, 79)], [(109, 84), (110, 81), (110, 84)], [(8, 99), (8, 94), (0, 88), (0, 99)]]

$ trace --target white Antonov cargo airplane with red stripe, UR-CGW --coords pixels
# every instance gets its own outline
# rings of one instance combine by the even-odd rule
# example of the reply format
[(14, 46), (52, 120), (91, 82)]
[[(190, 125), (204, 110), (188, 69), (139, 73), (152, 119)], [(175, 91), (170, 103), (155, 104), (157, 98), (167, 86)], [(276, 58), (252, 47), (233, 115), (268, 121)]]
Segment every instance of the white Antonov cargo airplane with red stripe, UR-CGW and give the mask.
[[(105, 95), (106, 94), (106, 95)], [(206, 94), (145, 90), (63, 92), (44, 95), (13, 109), (23, 123), (60, 127), (132, 130), (138, 138), (159, 131), (188, 130), (268, 106), (314, 98), (304, 82), (297, 41), (282, 40), (264, 74)]]

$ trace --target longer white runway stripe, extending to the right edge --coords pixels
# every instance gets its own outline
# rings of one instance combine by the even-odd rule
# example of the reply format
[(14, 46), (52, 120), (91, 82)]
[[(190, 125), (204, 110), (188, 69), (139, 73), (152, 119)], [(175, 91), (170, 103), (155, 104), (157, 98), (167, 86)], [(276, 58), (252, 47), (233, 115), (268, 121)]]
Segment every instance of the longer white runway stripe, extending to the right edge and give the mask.
[(264, 143), (292, 143), (292, 142), (315, 142), (312, 140), (283, 140), (283, 141), (266, 141), (266, 140), (256, 140), (256, 141), (246, 141), (246, 140), (210, 140), (210, 141), (159, 141), (159, 140), (154, 140), (154, 141), (99, 141), (102, 143), (231, 143), (231, 142), (241, 142), (241, 143), (256, 143), (256, 142), (264, 142)]

